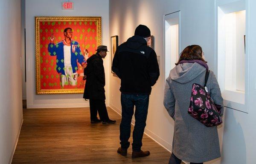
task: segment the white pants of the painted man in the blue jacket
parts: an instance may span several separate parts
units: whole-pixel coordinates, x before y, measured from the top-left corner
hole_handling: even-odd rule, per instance
[[[61,86],[64,85],[77,85],[77,72],[73,73],[72,66],[65,66],[64,67],[65,75],[61,75]]]

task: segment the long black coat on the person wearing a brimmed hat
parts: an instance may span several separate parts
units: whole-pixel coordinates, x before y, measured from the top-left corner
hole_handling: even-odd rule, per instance
[[[84,99],[105,98],[105,72],[102,57],[96,53],[87,59],[87,67],[84,68],[87,76],[84,87]]]

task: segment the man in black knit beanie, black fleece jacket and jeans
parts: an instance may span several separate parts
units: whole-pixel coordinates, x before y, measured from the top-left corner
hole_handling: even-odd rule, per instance
[[[122,121],[120,124],[120,144],[117,153],[127,154],[130,146],[131,119],[135,110],[132,158],[148,156],[142,151],[142,138],[148,113],[149,95],[159,77],[159,66],[155,51],[147,46],[150,42],[150,30],[139,25],[133,37],[121,44],[113,59],[112,71],[121,79]]]

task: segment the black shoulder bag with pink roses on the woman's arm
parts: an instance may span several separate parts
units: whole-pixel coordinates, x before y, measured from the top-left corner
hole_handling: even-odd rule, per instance
[[[188,113],[207,127],[222,123],[221,105],[216,105],[206,87],[209,70],[206,70],[204,86],[194,83]]]

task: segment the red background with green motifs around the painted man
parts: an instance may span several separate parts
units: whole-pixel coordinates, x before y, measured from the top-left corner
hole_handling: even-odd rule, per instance
[[[40,72],[41,89],[73,89],[84,88],[85,81],[82,80],[83,68],[78,64],[79,69],[77,86],[64,85],[61,87],[60,76],[56,71],[56,56],[50,56],[48,53],[48,44],[50,36],[53,33],[58,43],[64,40],[64,29],[70,27],[73,29],[72,40],[79,43],[82,54],[84,50],[89,51],[89,57],[95,53],[97,47],[96,21],[49,21],[40,22]]]

